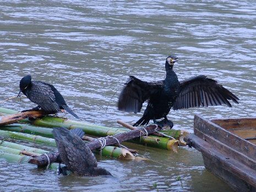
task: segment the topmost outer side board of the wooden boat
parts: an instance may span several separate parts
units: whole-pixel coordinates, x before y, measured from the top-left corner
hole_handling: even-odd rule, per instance
[[[239,138],[237,135],[228,132],[226,129],[198,115],[195,115],[194,117],[194,127],[200,132],[209,135],[210,137],[219,140],[221,143],[230,146],[251,159],[256,160],[255,144]]]

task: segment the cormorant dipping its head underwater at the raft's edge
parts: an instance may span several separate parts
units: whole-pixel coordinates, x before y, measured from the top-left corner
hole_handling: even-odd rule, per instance
[[[97,167],[97,161],[88,145],[81,139],[84,132],[79,129],[53,128],[52,131],[66,170],[77,176],[111,176],[104,168]],[[59,166],[59,172],[63,168]],[[65,170],[64,169],[64,170]]]

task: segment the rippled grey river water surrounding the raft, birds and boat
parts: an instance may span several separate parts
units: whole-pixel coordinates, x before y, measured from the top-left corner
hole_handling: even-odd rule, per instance
[[[54,84],[82,120],[118,127],[116,120],[133,123],[142,115],[116,109],[128,75],[162,80],[165,59],[175,54],[179,80],[208,75],[241,102],[233,108],[171,111],[168,118],[174,128],[193,132],[194,114],[255,116],[255,19],[254,1],[0,1],[0,100],[17,95],[20,78],[30,74],[34,80]],[[14,99],[1,106],[24,110],[35,105]],[[97,156],[113,178],[56,176],[1,160],[1,191],[231,190],[205,170],[194,149],[173,154],[130,146],[152,161]]]

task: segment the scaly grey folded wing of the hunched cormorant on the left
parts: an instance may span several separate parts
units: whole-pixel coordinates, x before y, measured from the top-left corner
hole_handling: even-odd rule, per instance
[[[27,97],[45,111],[59,111],[59,106],[56,103],[55,94],[51,87],[40,81],[33,81],[31,91]]]

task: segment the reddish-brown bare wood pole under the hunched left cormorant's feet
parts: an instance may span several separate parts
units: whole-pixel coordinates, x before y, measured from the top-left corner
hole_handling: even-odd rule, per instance
[[[18,114],[1,116],[0,117],[0,126],[17,123],[19,120],[23,120],[24,118],[36,118],[36,117],[41,117],[44,115],[49,115],[49,113],[47,113],[43,110],[38,110],[38,111],[19,112]]]

